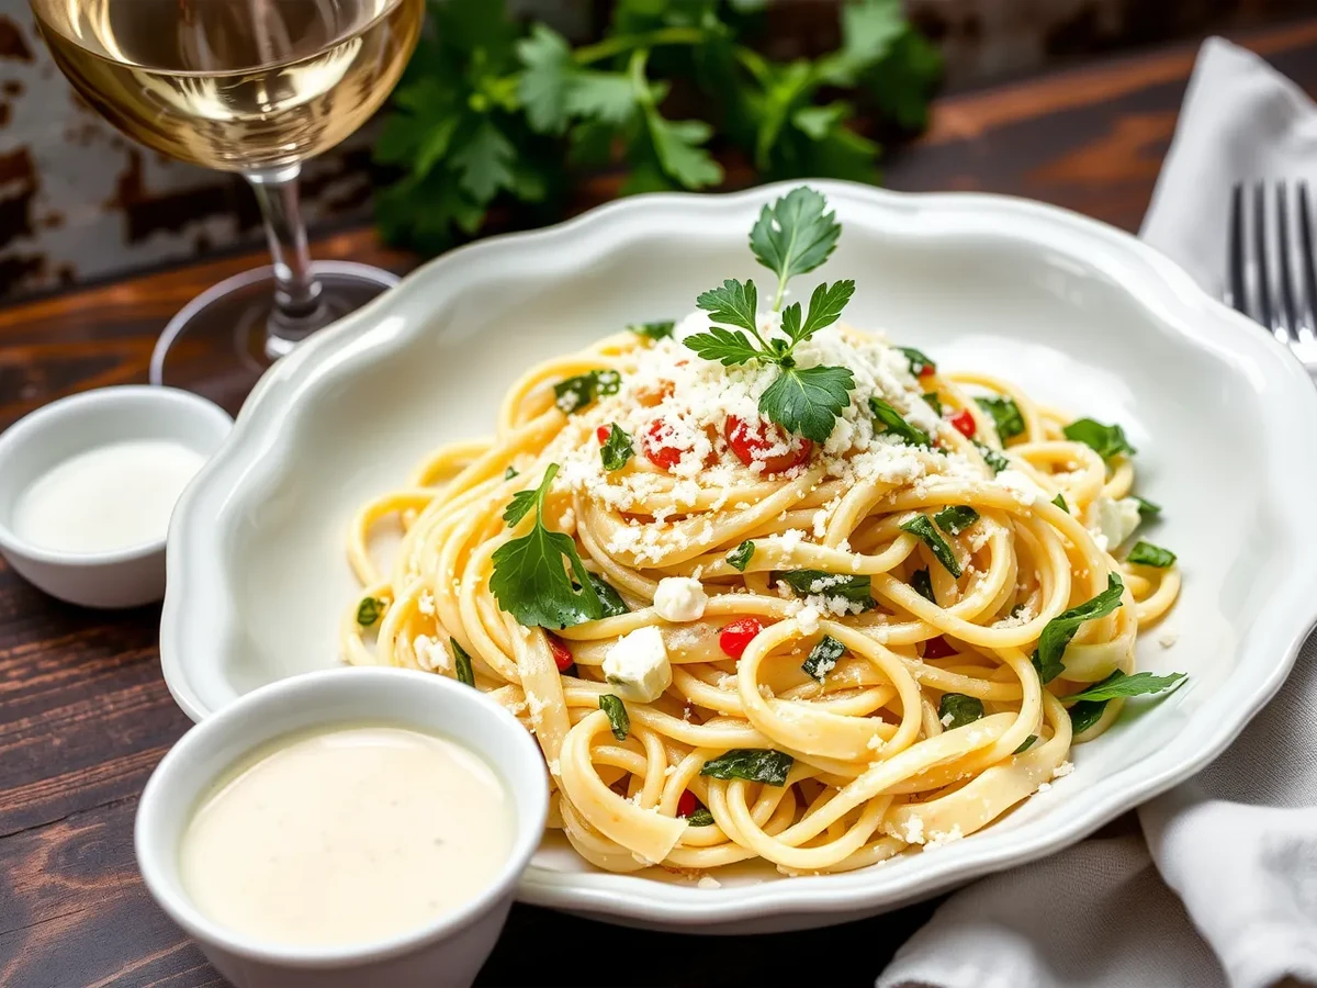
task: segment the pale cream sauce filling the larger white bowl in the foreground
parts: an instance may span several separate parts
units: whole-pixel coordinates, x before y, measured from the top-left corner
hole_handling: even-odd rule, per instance
[[[296,735],[203,797],[183,888],[205,916],[284,946],[407,933],[489,888],[511,797],[477,755],[402,727]]]

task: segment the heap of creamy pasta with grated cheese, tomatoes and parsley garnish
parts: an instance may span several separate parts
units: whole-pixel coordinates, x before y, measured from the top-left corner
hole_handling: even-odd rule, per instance
[[[532,368],[353,522],[345,659],[516,714],[599,868],[936,847],[1183,680],[1134,669],[1180,573],[1130,545],[1159,508],[1123,429],[847,327],[851,281],[790,300],[839,236],[793,190],[751,232],[766,287]]]

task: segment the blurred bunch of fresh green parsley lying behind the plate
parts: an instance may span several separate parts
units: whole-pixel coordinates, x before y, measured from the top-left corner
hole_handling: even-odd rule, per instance
[[[900,0],[847,0],[836,51],[774,62],[740,41],[757,5],[616,0],[603,37],[573,47],[544,24],[515,25],[503,0],[432,0],[374,149],[398,177],[377,194],[381,232],[433,252],[499,204],[548,220],[574,175],[602,167],[624,173],[623,194],[716,186],[710,144],[741,149],[765,179],[876,182],[880,148],[840,97],[919,129],[936,50]],[[701,117],[673,119],[672,103]]]

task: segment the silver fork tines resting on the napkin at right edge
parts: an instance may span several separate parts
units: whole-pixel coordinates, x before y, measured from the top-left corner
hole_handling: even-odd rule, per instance
[[[1266,182],[1237,182],[1231,190],[1226,302],[1317,374],[1317,254],[1308,183],[1277,180],[1271,191],[1268,196]]]

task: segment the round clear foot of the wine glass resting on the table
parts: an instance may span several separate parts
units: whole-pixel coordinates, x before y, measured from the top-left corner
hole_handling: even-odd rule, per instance
[[[153,385],[209,398],[237,415],[248,393],[275,360],[300,339],[361,308],[398,283],[398,275],[352,261],[315,261],[320,308],[296,324],[274,311],[274,269],[257,267],[225,278],[174,316],[151,353]]]

